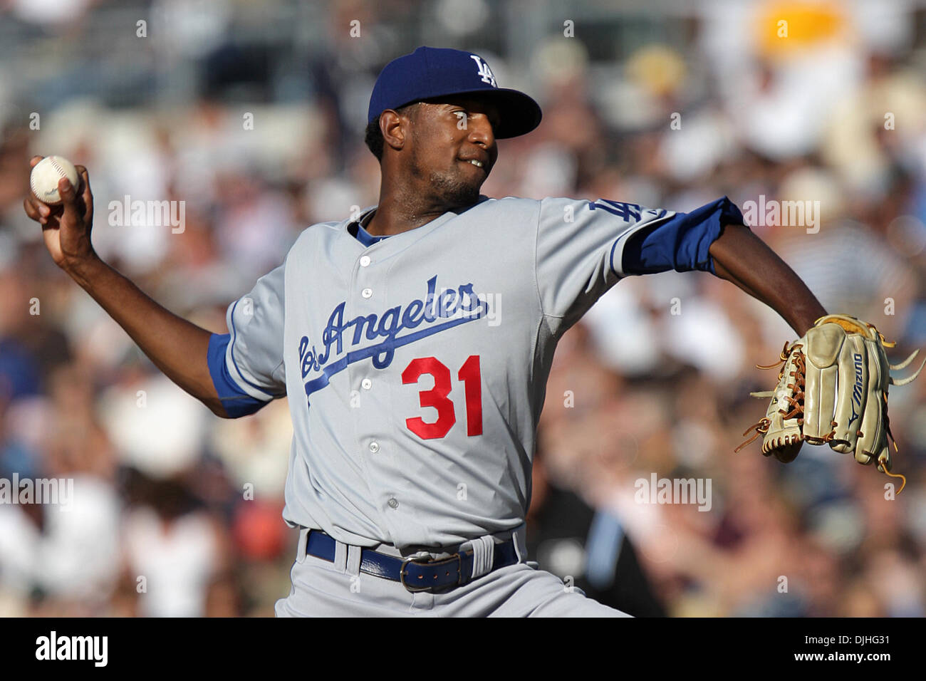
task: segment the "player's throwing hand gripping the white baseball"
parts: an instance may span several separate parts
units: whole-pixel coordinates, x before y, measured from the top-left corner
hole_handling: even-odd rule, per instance
[[[30,168],[42,160],[35,156],[29,161]],[[52,254],[55,264],[64,271],[71,271],[77,265],[95,258],[90,243],[90,231],[94,224],[94,195],[90,191],[90,177],[87,169],[76,166],[79,186],[73,187],[62,178],[58,182],[61,204],[50,206],[31,191],[23,200],[26,215],[42,225],[45,247]]]

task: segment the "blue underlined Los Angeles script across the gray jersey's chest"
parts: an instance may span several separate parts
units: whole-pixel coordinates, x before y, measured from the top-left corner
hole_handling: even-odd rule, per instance
[[[385,369],[394,358],[395,348],[451,329],[466,322],[481,319],[489,312],[484,296],[473,293],[473,284],[460,284],[457,288],[444,288],[438,293],[437,275],[427,282],[424,299],[416,298],[406,305],[386,309],[382,314],[359,315],[344,321],[346,301],[339,303],[328,318],[321,333],[323,348],[319,352],[309,347],[308,336],[299,339],[299,366],[303,381],[312,372],[319,376],[306,382],[306,397],[328,385],[332,375],[349,364],[372,358],[373,366]],[[418,331],[410,331],[424,326]],[[353,329],[353,334],[348,332]],[[409,331],[400,335],[403,331]],[[367,347],[357,347],[367,341],[383,340]],[[348,348],[344,352],[344,346]],[[338,359],[333,359],[337,357]]]

